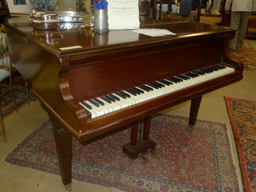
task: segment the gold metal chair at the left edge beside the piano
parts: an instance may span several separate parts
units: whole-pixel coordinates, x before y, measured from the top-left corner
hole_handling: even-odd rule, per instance
[[[13,72],[16,71],[15,68],[12,68],[9,51],[7,47],[7,40],[5,35],[5,27],[1,25],[0,27],[0,37],[1,37],[1,45],[0,45],[0,99],[7,100],[3,104],[0,104],[0,111],[3,106],[7,105],[9,102],[13,102],[15,109],[18,113],[18,108],[15,102],[13,88],[23,88],[26,89],[27,94],[27,101],[29,104],[29,97],[28,97],[28,86],[27,86],[27,79],[23,76],[20,76],[20,80],[22,81],[22,86],[13,86]],[[17,71],[16,71],[17,72]],[[9,78],[9,79],[8,79]],[[4,82],[3,82],[4,81]],[[10,94],[8,94],[10,93]],[[2,127],[2,131],[0,131],[0,136],[4,136],[4,140],[6,143],[6,135],[5,135],[5,127],[3,123],[2,114],[0,113],[0,124]]]

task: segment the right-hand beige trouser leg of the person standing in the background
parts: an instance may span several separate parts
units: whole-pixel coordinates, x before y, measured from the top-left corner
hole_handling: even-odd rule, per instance
[[[238,37],[237,37],[237,42],[236,42],[237,49],[240,49],[243,45],[249,16],[250,16],[250,12],[243,11],[241,14],[239,30],[238,30]]]

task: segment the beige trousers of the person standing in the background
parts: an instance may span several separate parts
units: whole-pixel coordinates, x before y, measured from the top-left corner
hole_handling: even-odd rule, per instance
[[[245,12],[245,11],[231,12],[230,27],[234,29],[238,29],[238,31],[236,32],[236,36],[229,41],[228,48],[230,50],[236,50],[242,47],[245,34],[246,34],[249,16],[250,16],[250,12]]]

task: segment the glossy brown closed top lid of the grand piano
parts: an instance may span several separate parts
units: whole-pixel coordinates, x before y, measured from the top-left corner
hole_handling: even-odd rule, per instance
[[[58,49],[60,48],[70,48],[63,50],[65,52],[72,50],[72,47],[79,47],[88,49],[94,49],[99,46],[111,46],[115,47],[129,45],[141,44],[141,41],[148,41],[152,39],[159,40],[170,40],[176,39],[180,36],[195,36],[199,33],[210,34],[218,32],[226,32],[227,29],[233,30],[231,28],[208,25],[208,24],[198,24],[196,22],[168,22],[168,20],[144,20],[140,28],[148,29],[167,29],[170,32],[176,33],[177,35],[165,35],[161,37],[151,37],[143,34],[138,34],[132,32],[132,30],[111,30],[109,33],[97,34],[93,33],[90,28],[86,28],[85,24],[82,23],[61,23],[59,27],[55,30],[35,30],[32,27],[32,23],[29,22],[27,17],[24,18],[12,18],[8,19],[7,23],[11,26],[15,26],[19,33],[22,32],[23,35],[33,36],[39,41],[50,45],[51,47]],[[131,46],[131,45],[129,45]]]

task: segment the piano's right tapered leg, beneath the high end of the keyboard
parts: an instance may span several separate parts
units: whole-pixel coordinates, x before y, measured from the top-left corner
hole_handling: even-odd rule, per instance
[[[193,126],[196,124],[201,100],[202,100],[202,96],[191,100],[189,120],[188,120],[188,125],[189,125],[188,131],[191,131],[193,129]]]

